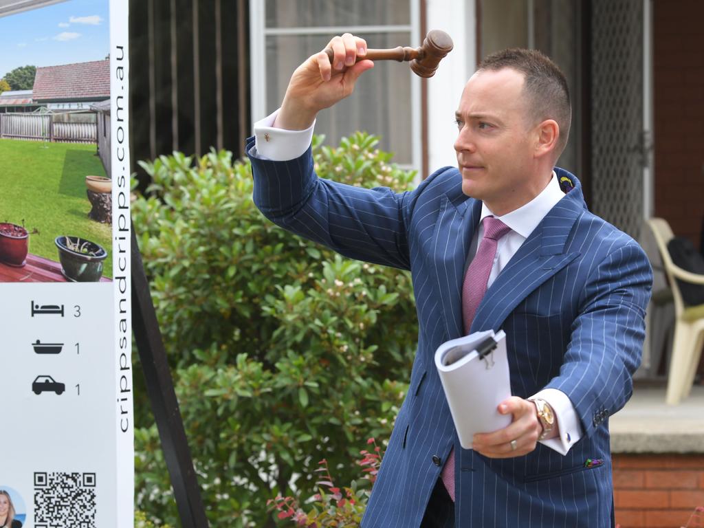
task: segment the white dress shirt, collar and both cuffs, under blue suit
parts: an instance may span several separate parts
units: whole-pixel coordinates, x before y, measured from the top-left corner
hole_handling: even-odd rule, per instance
[[[313,139],[313,128],[315,122],[306,130],[284,130],[275,128],[274,122],[279,111],[268,115],[263,120],[254,124],[254,149],[260,158],[271,161],[288,161],[299,156],[308,150]],[[510,232],[498,240],[496,247],[496,257],[489,274],[487,287],[491,286],[498,274],[505,268],[508,261],[515,255],[521,244],[527,239],[545,215],[555,206],[565,194],[560,189],[558,178],[553,172],[553,177],[547,187],[534,199],[516,210],[506,213],[503,216],[496,216],[505,225],[511,228]],[[474,233],[470,255],[477,252],[479,240],[484,234],[482,220],[486,216],[495,216],[491,213],[486,204],[482,202],[482,213],[479,218],[479,229]],[[582,438],[582,425],[574,410],[572,401],[567,395],[558,389],[543,389],[534,395],[547,401],[555,412],[555,426],[560,431],[560,436],[543,440],[542,444],[553,448],[558,453],[566,455],[570,447]]]

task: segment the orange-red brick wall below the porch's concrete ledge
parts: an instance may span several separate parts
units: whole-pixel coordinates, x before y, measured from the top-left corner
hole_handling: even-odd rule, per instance
[[[621,528],[679,528],[704,506],[704,454],[615,453],[613,482]]]

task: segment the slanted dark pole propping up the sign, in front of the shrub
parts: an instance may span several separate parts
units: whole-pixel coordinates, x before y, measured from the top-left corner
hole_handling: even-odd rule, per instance
[[[132,332],[183,528],[208,528],[159,323],[132,225]]]

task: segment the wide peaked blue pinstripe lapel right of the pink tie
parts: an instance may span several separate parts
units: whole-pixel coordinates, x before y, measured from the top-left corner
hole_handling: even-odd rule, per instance
[[[579,252],[566,252],[565,248],[583,211],[584,201],[577,189],[551,209],[486,290],[474,315],[472,332],[499,329],[524,298],[579,256]]]

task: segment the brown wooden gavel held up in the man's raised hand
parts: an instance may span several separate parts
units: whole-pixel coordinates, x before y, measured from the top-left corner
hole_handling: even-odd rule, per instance
[[[371,61],[410,61],[410,69],[420,77],[432,77],[441,59],[452,51],[450,35],[441,30],[428,32],[420,48],[401,47],[391,49],[367,49],[367,54],[357,57],[357,61],[368,58]],[[332,63],[332,48],[325,48],[325,53]]]

